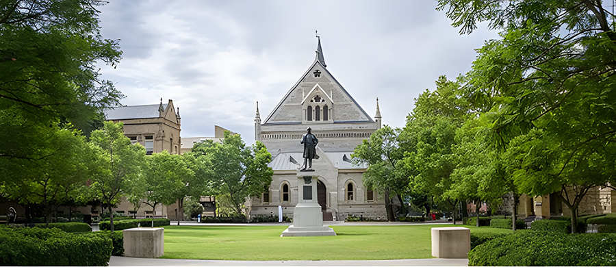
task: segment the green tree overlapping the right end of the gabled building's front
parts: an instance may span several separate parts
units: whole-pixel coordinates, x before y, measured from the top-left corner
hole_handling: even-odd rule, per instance
[[[398,162],[402,159],[398,135],[400,129],[384,125],[372,133],[370,139],[364,139],[351,154],[354,164],[368,164],[363,173],[363,184],[374,188],[385,196],[387,220],[395,220],[392,206],[392,194],[402,203],[402,194],[409,188],[409,179],[403,175]]]

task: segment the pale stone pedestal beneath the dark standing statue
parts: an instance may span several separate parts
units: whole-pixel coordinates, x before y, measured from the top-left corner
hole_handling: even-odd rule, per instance
[[[317,200],[318,175],[314,172],[298,172],[298,203],[293,212],[293,225],[283,236],[335,236],[330,227],[323,225],[323,212]]]

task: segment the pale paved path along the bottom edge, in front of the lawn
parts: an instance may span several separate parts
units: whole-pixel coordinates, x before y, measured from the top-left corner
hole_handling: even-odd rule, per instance
[[[389,259],[381,261],[220,261],[143,259],[112,256],[109,266],[468,266],[468,259]]]

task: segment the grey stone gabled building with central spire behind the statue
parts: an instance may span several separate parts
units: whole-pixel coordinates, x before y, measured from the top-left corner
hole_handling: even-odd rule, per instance
[[[324,220],[386,218],[383,197],[363,186],[366,166],[350,160],[355,147],[381,128],[378,100],[373,119],[327,71],[320,40],[316,53],[308,70],[263,121],[257,103],[255,139],[272,153],[269,166],[274,175],[268,192],[247,202],[247,212],[251,216],[277,215],[281,205],[283,215],[292,218],[298,203],[297,170],[303,164],[300,140],[311,127],[319,140],[320,156],[313,160],[313,168],[326,173],[318,177]]]

